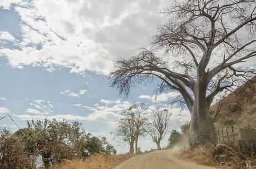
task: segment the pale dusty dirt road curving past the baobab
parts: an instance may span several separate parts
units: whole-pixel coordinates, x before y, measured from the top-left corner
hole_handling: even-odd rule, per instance
[[[138,155],[122,162],[115,169],[215,169],[179,160],[174,150],[162,150]]]

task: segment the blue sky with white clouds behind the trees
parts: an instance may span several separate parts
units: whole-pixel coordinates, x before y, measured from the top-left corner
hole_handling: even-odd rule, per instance
[[[110,88],[107,74],[118,58],[150,44],[160,10],[168,0],[0,0],[0,118],[8,111],[19,127],[27,120],[80,121],[86,131],[106,136],[118,152],[128,151],[110,132],[131,102],[151,107],[176,94],[154,97],[154,84],[132,89],[126,100]],[[172,129],[189,120],[173,108]],[[10,118],[1,126],[17,130]],[[163,142],[163,146],[167,141]],[[142,138],[142,150],[155,148]]]

